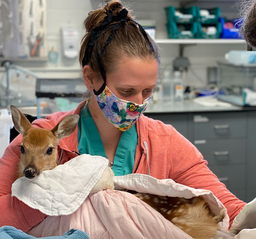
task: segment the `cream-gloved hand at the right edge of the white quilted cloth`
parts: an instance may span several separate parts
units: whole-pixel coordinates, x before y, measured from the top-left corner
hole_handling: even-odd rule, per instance
[[[105,169],[103,172],[99,182],[92,188],[91,193],[99,192],[103,189],[114,189],[114,180],[113,176],[115,176],[113,170],[109,167]]]

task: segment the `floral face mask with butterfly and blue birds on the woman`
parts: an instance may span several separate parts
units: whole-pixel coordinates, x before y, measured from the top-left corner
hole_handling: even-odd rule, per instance
[[[143,104],[137,105],[116,97],[107,86],[95,97],[106,119],[121,131],[129,130],[132,127],[146,110],[151,98],[149,96]]]

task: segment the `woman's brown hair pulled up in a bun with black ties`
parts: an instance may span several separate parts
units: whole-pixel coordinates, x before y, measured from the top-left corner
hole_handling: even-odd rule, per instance
[[[99,9],[89,12],[89,16],[84,21],[86,34],[81,41],[79,56],[79,61],[81,65],[86,45],[90,40],[91,30],[95,27],[98,27],[104,21],[105,17],[107,16],[107,10],[112,10],[112,14],[116,15],[116,13],[120,12],[123,8],[123,4],[120,1],[112,0],[105,5],[101,5]],[[134,16],[131,15],[132,11],[128,11],[129,12],[127,18],[134,20]],[[115,24],[115,22],[111,24]],[[110,32],[111,28],[104,31],[99,36],[95,46],[93,47],[92,57],[88,64],[92,68],[94,73],[99,74],[99,76],[100,71],[97,62],[97,52],[101,51],[104,43],[108,39]],[[124,23],[124,25],[116,30],[113,36],[113,40],[108,44],[105,49],[105,53],[101,58],[106,74],[112,73],[115,70],[117,62],[122,56],[139,58],[148,61],[157,60],[157,62],[160,63],[158,46],[150,36],[148,36],[148,38],[153,45],[154,52],[151,51],[148,41],[140,33],[140,30],[136,24],[134,24],[132,21]]]

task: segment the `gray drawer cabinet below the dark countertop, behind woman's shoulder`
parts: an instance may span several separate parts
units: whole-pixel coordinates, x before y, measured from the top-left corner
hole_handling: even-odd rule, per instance
[[[256,197],[256,111],[145,114],[189,139],[239,199]]]

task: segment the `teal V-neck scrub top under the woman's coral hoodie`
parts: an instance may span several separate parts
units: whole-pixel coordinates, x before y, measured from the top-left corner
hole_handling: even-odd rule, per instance
[[[88,100],[87,100],[88,103]],[[107,158],[100,134],[94,123],[87,103],[81,108],[78,121],[78,152],[79,154],[100,155]],[[115,176],[132,173],[135,150],[138,143],[136,123],[127,131],[123,131],[118,143],[112,170]]]

